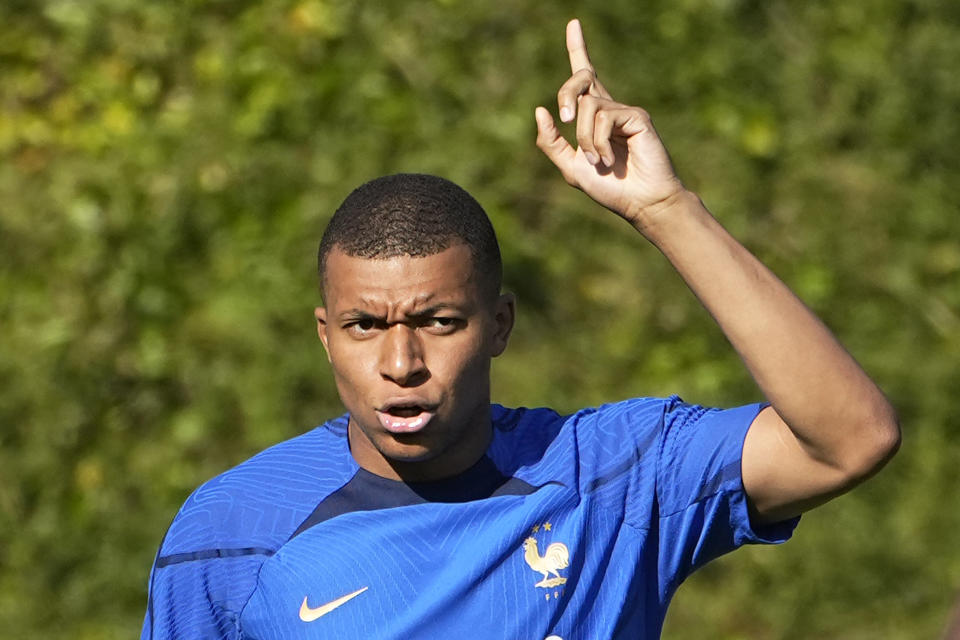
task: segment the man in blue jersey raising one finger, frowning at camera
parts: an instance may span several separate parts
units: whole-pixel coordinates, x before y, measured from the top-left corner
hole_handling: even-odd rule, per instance
[[[363,185],[319,251],[348,414],[208,482],[167,533],[143,637],[655,638],[680,582],[896,450],[882,393],[597,80],[580,25],[537,144],[653,243],[769,404],[640,398],[572,416],[489,402],[514,301],[480,206],[432,176]]]

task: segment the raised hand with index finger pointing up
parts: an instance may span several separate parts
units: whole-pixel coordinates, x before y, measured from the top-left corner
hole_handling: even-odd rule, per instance
[[[560,134],[553,116],[537,107],[537,146],[568,183],[642,230],[647,218],[684,188],[667,150],[640,107],[616,102],[597,78],[579,20],[567,24],[573,75],[557,94],[560,119],[577,121],[577,148]]]

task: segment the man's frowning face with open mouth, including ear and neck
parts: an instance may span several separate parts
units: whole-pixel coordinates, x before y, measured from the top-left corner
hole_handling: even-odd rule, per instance
[[[470,250],[327,256],[317,330],[365,469],[429,480],[476,462],[490,439],[490,359],[513,326],[510,296],[484,293]]]

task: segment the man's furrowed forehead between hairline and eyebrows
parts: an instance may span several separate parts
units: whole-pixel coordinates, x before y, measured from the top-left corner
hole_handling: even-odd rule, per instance
[[[479,295],[466,245],[429,256],[363,258],[334,248],[327,256],[324,297],[328,306],[430,306],[464,304]]]

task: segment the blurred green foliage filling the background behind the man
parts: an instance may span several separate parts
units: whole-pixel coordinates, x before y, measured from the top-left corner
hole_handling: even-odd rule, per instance
[[[357,184],[452,178],[520,323],[495,399],[758,398],[655,250],[533,145],[584,21],[685,182],[874,374],[900,455],[665,637],[934,638],[960,588],[960,4],[0,3],[0,628],[128,638],[206,478],[341,411],[315,244]]]

